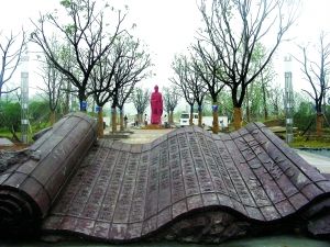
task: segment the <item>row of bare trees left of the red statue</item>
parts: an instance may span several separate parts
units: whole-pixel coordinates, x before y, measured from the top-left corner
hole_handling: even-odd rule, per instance
[[[63,94],[66,94],[66,105],[69,104],[69,96],[76,96],[80,111],[86,111],[87,99],[92,98],[98,110],[98,134],[102,137],[103,105],[111,102],[112,128],[117,131],[116,110],[120,110],[122,119],[123,105],[135,85],[150,76],[151,57],[143,43],[124,27],[127,13],[122,10],[92,0],[62,0],[61,5],[62,11],[40,14],[38,20],[31,20],[34,31],[29,38],[23,32],[12,71],[18,66],[25,42],[37,44],[42,49],[38,55],[42,63],[40,72],[45,86],[41,89],[50,102],[51,122],[55,121]],[[15,40],[14,36],[10,38],[8,46]],[[3,54],[7,55],[6,50]],[[9,68],[10,65],[4,61],[2,67]],[[4,78],[3,74],[0,74],[0,89],[11,77],[9,74]]]

